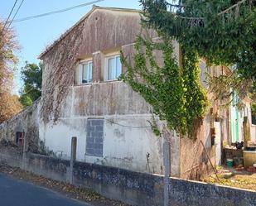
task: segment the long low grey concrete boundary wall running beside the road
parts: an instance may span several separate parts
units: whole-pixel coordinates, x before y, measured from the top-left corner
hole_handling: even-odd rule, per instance
[[[22,156],[1,148],[0,160],[8,165],[22,167]],[[36,175],[68,181],[70,162],[48,156],[28,153],[26,168]],[[104,165],[75,162],[75,185],[93,189],[110,199],[142,206],[163,205],[163,176],[121,170]],[[205,184],[196,181],[169,179],[169,205],[173,206],[254,206],[256,193],[244,189]]]

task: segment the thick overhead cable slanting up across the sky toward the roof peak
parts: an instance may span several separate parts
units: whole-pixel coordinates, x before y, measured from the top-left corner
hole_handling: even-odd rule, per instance
[[[20,19],[14,20],[13,22],[15,22],[15,23],[16,22],[24,22],[24,21],[35,19],[35,18],[39,18],[39,17],[46,17],[46,16],[49,16],[49,15],[52,15],[52,14],[56,14],[56,13],[60,13],[60,12],[67,12],[67,11],[70,11],[70,10],[78,8],[78,7],[85,7],[85,6],[89,6],[89,5],[93,4],[93,3],[103,2],[103,1],[104,0],[95,0],[95,1],[92,1],[92,2],[86,2],[86,3],[82,3],[80,5],[76,5],[74,7],[67,7],[67,8],[56,10],[56,11],[52,11],[52,12],[41,13],[41,14],[38,14],[38,15],[35,15],[35,16],[31,16],[31,17],[20,18]]]

